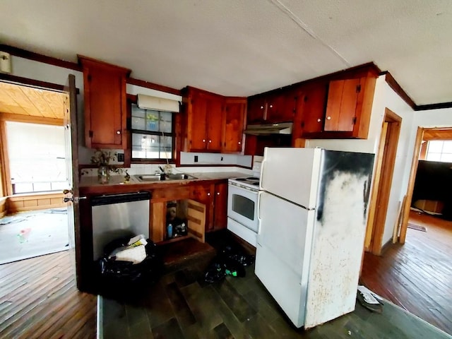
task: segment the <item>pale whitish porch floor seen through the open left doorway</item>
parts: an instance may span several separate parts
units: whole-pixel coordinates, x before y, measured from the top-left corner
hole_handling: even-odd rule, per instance
[[[0,264],[69,249],[66,208],[0,218]]]

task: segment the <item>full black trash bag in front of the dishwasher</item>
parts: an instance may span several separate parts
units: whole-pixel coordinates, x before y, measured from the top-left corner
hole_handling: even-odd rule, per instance
[[[157,246],[150,239],[146,239],[146,257],[141,263],[119,261],[108,258],[109,254],[121,246],[126,246],[130,238],[116,239],[105,246],[105,255],[98,261],[100,294],[118,296],[119,294],[133,294],[144,287],[155,283],[162,274],[163,261],[157,253]]]

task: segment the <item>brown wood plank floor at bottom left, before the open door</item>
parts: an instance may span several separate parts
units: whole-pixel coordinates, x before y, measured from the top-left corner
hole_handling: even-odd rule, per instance
[[[77,290],[71,255],[0,265],[0,338],[96,338],[97,296]]]

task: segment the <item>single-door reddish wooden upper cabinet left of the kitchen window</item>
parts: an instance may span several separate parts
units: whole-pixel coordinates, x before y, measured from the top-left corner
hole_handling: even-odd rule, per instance
[[[83,68],[86,147],[126,149],[126,78],[131,71],[78,59]]]

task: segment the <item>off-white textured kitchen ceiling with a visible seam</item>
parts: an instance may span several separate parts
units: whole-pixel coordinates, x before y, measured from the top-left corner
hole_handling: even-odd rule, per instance
[[[449,0],[2,0],[0,42],[249,96],[369,61],[416,105],[451,102]],[[14,67],[14,65],[13,65]]]

